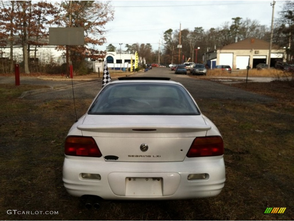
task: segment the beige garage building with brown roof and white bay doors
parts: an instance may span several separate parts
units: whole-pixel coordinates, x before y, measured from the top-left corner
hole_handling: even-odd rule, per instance
[[[230,65],[233,70],[246,69],[248,64],[251,68],[255,68],[260,63],[267,64],[269,47],[269,42],[257,38],[247,38],[206,52],[203,54],[203,61],[211,69],[216,65]],[[285,61],[285,55],[285,48],[272,44],[270,67],[274,67],[276,60]]]

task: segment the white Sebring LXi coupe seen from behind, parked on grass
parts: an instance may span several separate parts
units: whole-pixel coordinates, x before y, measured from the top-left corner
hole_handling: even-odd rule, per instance
[[[92,199],[212,197],[225,183],[223,152],[220,132],[183,85],[122,77],[69,130],[64,187]]]

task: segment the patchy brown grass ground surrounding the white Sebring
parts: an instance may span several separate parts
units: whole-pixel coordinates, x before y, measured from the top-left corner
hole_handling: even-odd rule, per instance
[[[63,145],[75,120],[69,112],[72,100],[18,99],[23,91],[40,86],[1,85],[0,220],[293,220],[294,89],[281,81],[232,86],[276,100],[198,101],[225,142],[227,180],[220,195],[105,202],[96,211],[85,209],[83,199],[70,196],[63,187]],[[76,100],[77,115],[90,103]],[[267,207],[287,209],[283,214],[264,214]],[[9,214],[9,210],[17,211]],[[23,214],[27,211],[29,214]]]

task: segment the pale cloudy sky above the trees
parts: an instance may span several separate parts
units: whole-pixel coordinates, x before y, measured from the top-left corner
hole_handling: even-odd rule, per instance
[[[284,1],[275,1],[278,17]],[[168,29],[203,27],[205,31],[232,24],[232,18],[257,20],[271,26],[273,1],[111,1],[114,19],[105,25],[106,43],[95,49],[106,50],[113,44],[126,50],[126,44],[150,43],[153,50],[162,48],[163,33]]]

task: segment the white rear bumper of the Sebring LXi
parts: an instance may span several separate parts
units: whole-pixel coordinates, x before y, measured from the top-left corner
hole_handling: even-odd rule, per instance
[[[84,179],[81,173],[99,174],[101,179]],[[208,174],[205,179],[187,179],[189,174],[202,173]],[[133,178],[137,183],[130,184],[128,180]],[[117,200],[212,197],[224,187],[225,165],[223,156],[183,162],[112,162],[66,156],[63,181],[67,192],[77,197],[96,195]]]

